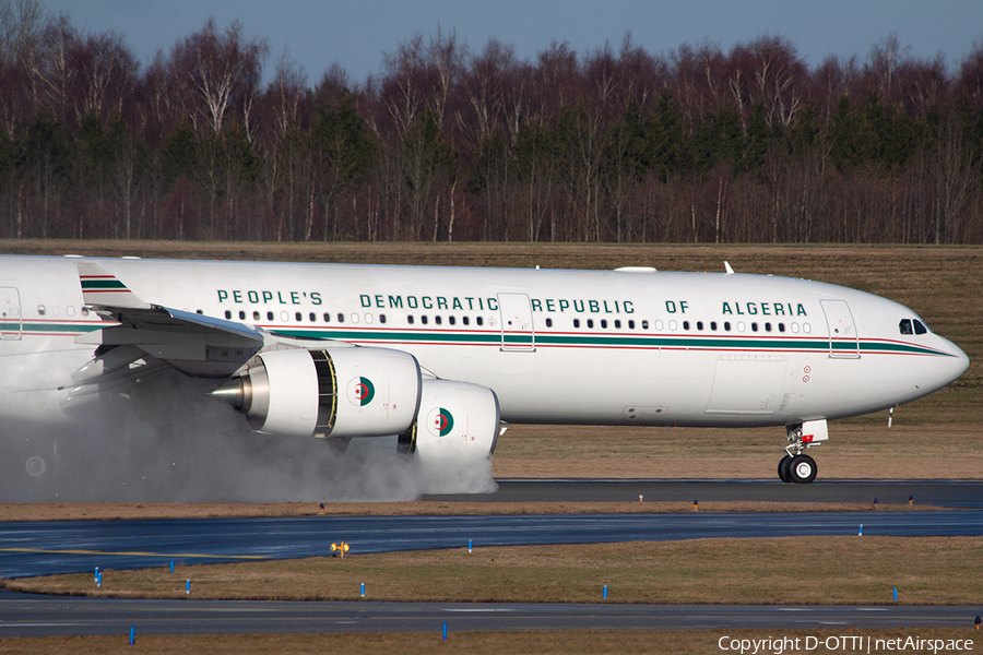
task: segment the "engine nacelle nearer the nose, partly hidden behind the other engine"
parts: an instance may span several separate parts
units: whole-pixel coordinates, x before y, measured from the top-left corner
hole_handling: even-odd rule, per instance
[[[487,386],[454,380],[424,380],[419,413],[400,434],[403,453],[424,462],[476,464],[495,452],[501,415],[498,396]]]

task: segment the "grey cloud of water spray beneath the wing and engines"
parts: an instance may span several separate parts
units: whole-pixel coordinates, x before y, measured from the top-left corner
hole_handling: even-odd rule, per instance
[[[70,429],[46,428],[44,416],[9,426],[16,454],[0,501],[382,501],[496,488],[490,461],[448,473],[400,454],[395,438],[353,439],[341,452],[331,440],[256,433],[208,396],[214,386],[169,371],[76,410]]]

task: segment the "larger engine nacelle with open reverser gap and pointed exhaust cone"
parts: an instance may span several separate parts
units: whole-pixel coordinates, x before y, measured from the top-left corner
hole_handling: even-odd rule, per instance
[[[419,365],[387,348],[271,350],[212,392],[259,432],[383,437],[407,430],[421,401]]]

